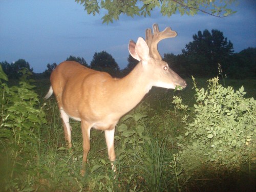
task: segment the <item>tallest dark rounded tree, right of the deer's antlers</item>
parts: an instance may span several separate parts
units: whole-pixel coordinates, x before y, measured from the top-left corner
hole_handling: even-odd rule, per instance
[[[219,30],[206,29],[193,35],[193,41],[182,49],[182,53],[188,57],[190,68],[196,72],[194,75],[211,76],[218,74],[218,63],[223,70],[229,66],[229,56],[233,53],[233,44],[228,41]]]

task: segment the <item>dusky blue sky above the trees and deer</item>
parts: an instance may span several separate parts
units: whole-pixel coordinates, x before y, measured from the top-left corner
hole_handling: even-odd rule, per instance
[[[163,17],[155,10],[151,17],[120,16],[113,24],[102,24],[101,15],[88,15],[74,0],[1,0],[0,61],[20,58],[30,63],[34,72],[46,70],[47,63],[60,63],[70,55],[80,56],[90,64],[95,52],[106,51],[123,69],[129,56],[130,39],[145,37],[145,29],[154,23],[160,30],[170,26],[175,38],[159,43],[159,52],[180,54],[199,30],[217,29],[233,43],[235,52],[256,47],[256,3],[241,0],[233,6],[236,14],[217,18],[206,14]]]

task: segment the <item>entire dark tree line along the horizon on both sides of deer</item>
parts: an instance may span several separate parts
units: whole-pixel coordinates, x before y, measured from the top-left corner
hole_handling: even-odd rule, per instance
[[[224,37],[219,30],[207,29],[198,31],[193,35],[193,41],[189,42],[182,53],[174,55],[165,53],[165,60],[169,67],[182,77],[214,77],[219,73],[227,75],[228,78],[254,78],[256,76],[256,48],[247,48],[239,53],[233,53],[233,44]],[[106,51],[95,52],[90,65],[83,57],[69,56],[66,60],[73,60],[81,63],[81,65],[110,73],[114,77],[122,77],[130,73],[137,65],[138,61],[131,55],[127,58],[127,67],[120,70],[117,62],[111,54]],[[20,76],[19,70],[28,68],[31,72],[28,62],[19,59],[16,62],[8,63],[0,62],[4,72],[9,78],[17,78]],[[41,75],[48,77],[56,68],[57,63],[48,63],[47,70]]]

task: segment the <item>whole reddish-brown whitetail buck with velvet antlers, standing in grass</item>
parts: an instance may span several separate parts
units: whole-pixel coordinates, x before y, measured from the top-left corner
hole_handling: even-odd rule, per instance
[[[167,27],[159,32],[158,25],[146,30],[146,41],[129,42],[130,54],[140,62],[127,76],[117,79],[74,61],[60,63],[51,74],[51,87],[45,98],[55,94],[63,121],[65,138],[71,144],[69,118],[81,121],[83,139],[82,175],[90,150],[90,130],[104,130],[111,162],[115,161],[114,133],[119,119],[132,110],[153,86],[167,89],[185,88],[186,82],[164,62],[157,45],[177,33]]]

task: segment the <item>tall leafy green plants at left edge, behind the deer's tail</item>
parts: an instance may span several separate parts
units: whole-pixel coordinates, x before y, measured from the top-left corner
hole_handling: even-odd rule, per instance
[[[30,84],[32,73],[27,68],[19,73],[23,74],[19,86],[9,88],[2,81],[8,79],[0,67],[1,186],[4,190],[31,191],[29,182],[37,174],[34,160],[38,157],[39,129],[46,120]]]

